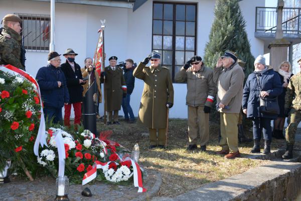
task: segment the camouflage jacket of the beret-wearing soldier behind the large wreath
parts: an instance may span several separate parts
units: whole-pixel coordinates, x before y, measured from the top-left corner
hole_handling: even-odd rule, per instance
[[[21,63],[22,37],[13,29],[4,26],[0,35],[0,65],[11,64],[25,70]]]

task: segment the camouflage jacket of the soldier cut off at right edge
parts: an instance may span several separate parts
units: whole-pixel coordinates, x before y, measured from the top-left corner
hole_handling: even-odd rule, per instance
[[[289,79],[285,94],[284,108],[294,108],[301,110],[301,72],[293,75]]]

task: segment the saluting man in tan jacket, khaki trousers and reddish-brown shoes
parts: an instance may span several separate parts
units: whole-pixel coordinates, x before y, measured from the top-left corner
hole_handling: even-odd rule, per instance
[[[237,124],[244,80],[243,70],[234,52],[226,51],[218,59],[213,77],[217,83],[217,110],[221,119],[222,138],[219,144],[222,150],[218,154],[225,154],[225,158],[232,159],[240,156]]]

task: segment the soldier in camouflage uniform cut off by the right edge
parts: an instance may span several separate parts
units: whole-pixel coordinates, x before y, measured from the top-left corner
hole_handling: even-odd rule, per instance
[[[301,70],[301,58],[298,60]],[[297,126],[301,121],[301,71],[293,75],[288,83],[285,94],[284,114],[287,116],[290,110],[290,123],[285,129],[286,151],[282,155],[283,159],[292,158],[292,149],[294,144]]]

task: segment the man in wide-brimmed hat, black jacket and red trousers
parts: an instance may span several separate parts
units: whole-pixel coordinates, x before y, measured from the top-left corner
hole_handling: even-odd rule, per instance
[[[74,110],[74,125],[80,124],[81,118],[81,104],[83,100],[83,81],[80,66],[75,63],[75,56],[77,54],[72,49],[67,49],[63,56],[66,62],[61,65],[61,69],[65,74],[67,80],[67,87],[70,96],[70,104],[65,106],[64,124],[70,126],[71,105]]]

